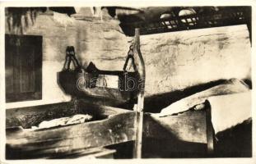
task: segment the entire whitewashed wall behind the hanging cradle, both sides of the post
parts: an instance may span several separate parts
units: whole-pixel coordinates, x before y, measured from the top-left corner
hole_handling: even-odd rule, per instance
[[[7,31],[7,34],[12,32]],[[119,21],[77,21],[63,14],[40,15],[25,34],[43,36],[43,99],[7,103],[7,108],[70,101],[57,84],[65,48],[73,45],[83,66],[121,71],[128,40]],[[146,95],[184,89],[211,80],[250,76],[250,43],[246,25],[141,36],[146,62]]]

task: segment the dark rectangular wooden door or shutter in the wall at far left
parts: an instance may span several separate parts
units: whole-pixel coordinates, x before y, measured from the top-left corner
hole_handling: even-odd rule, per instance
[[[42,36],[5,35],[6,102],[42,98]]]

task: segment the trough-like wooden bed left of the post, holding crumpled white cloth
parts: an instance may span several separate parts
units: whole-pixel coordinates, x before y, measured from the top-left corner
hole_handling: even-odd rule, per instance
[[[70,108],[71,104],[7,110],[7,158],[58,157],[77,153],[84,148],[99,148],[134,140],[135,112],[82,102],[73,109]],[[77,113],[91,114],[95,120],[43,130],[28,129],[40,121]]]

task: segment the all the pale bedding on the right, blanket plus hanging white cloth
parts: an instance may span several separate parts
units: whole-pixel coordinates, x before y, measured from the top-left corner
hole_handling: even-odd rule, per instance
[[[251,117],[251,91],[242,80],[226,80],[223,84],[195,93],[165,107],[156,116],[169,116],[189,109],[203,109],[208,100],[212,108],[215,133],[240,124]]]

